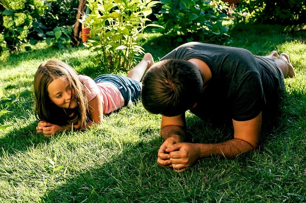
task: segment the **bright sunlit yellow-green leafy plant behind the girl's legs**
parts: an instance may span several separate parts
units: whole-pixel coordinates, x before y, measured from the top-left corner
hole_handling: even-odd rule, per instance
[[[147,16],[158,1],[152,0],[88,0],[91,13],[81,21],[89,27],[86,46],[97,53],[95,63],[110,70],[128,70],[134,56],[144,53],[139,42],[150,21]]]

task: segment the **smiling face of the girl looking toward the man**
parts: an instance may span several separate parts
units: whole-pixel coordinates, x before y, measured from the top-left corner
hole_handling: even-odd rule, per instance
[[[56,78],[48,85],[48,94],[51,102],[62,108],[75,108],[75,91],[67,80]]]

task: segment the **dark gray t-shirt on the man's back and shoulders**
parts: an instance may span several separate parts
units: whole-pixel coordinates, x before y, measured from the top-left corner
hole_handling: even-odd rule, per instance
[[[255,118],[278,91],[278,79],[248,50],[199,42],[183,44],[165,59],[199,59],[212,73],[207,88],[191,112],[199,117],[225,115],[237,121]],[[266,96],[270,94],[269,96]]]

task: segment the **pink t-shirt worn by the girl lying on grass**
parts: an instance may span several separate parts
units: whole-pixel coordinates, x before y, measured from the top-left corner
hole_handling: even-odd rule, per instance
[[[101,95],[103,99],[103,114],[111,113],[124,105],[124,99],[113,83],[102,82],[96,84],[93,79],[86,75],[78,75],[78,78],[89,90],[89,92],[86,91],[88,102],[98,94]]]

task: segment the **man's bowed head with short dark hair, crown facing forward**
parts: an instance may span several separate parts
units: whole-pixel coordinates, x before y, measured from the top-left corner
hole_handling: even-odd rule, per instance
[[[200,96],[203,79],[191,62],[168,59],[155,63],[142,79],[141,101],[153,114],[177,116]]]

